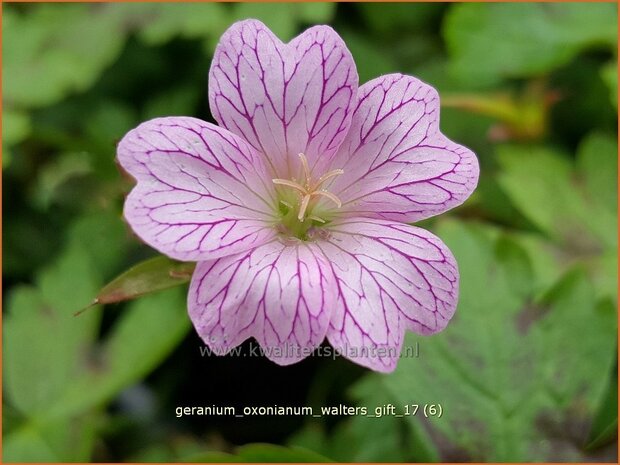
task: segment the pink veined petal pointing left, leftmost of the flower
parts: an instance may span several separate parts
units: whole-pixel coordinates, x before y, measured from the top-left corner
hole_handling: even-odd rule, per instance
[[[138,184],[124,214],[147,244],[178,260],[238,253],[273,237],[275,200],[260,156],[195,118],[158,118],[130,131],[118,161]]]

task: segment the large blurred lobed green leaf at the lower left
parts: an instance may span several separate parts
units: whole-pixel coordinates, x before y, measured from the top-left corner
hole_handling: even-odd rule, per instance
[[[4,401],[20,416],[5,430],[5,458],[90,460],[99,408],[157,366],[186,334],[179,289],[132,304],[99,346],[100,314],[73,316],[124,258],[125,236],[116,215],[86,216],[70,227],[66,249],[36,285],[9,294]]]

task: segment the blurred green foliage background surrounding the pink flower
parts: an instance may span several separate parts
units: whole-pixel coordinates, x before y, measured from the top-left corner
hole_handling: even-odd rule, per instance
[[[73,316],[154,254],[123,224],[116,142],[155,116],[210,119],[213,49],[249,17],[284,40],[331,24],[362,82],[426,80],[479,156],[476,193],[424,225],[457,257],[456,316],[409,335],[419,357],[393,374],[200,357],[183,286]],[[2,21],[4,461],[616,460],[615,4],[7,4]],[[443,415],[173,414],[235,401]]]

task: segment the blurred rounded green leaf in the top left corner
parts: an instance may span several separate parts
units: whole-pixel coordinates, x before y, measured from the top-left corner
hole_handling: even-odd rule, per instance
[[[86,4],[5,8],[3,98],[15,108],[40,107],[90,87],[125,43],[111,11]]]

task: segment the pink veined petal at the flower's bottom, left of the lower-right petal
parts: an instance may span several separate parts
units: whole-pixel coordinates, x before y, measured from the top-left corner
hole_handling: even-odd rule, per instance
[[[274,240],[254,250],[198,263],[189,314],[204,342],[223,355],[254,337],[264,355],[289,365],[325,338],[336,291],[314,244]]]

